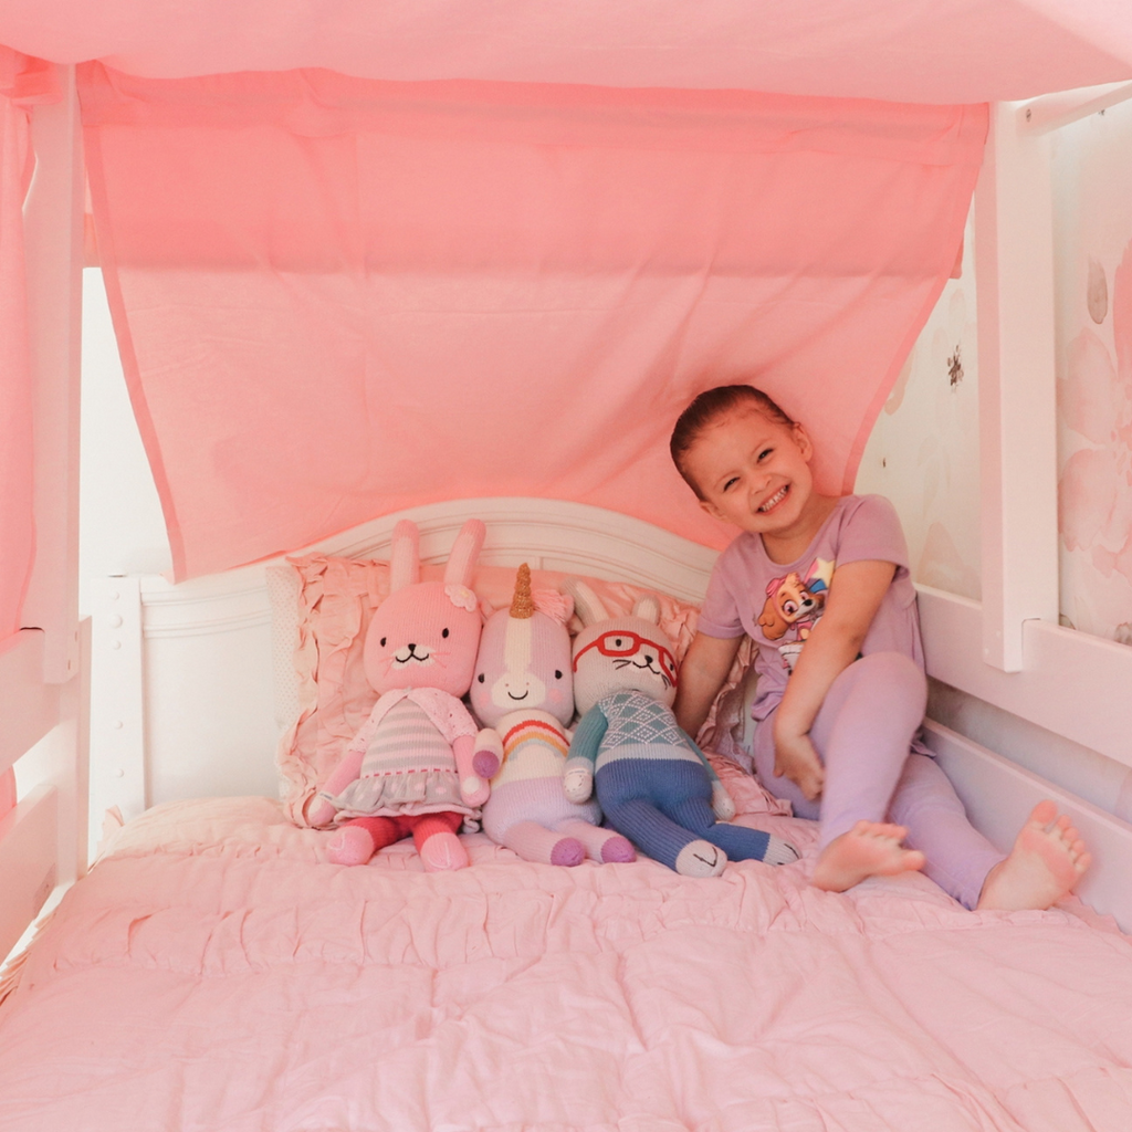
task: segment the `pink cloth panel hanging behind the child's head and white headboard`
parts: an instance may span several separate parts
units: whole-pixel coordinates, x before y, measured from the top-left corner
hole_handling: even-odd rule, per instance
[[[667,436],[723,380],[848,489],[986,131],[981,106],[329,71],[92,63],[80,96],[178,577],[479,495],[720,546]]]

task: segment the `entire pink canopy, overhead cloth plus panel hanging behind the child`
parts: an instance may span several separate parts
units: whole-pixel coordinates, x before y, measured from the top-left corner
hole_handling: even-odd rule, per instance
[[[719,546],[666,441],[726,380],[848,489],[981,103],[1132,78],[1123,9],[6,0],[0,42],[96,60],[100,256],[186,577],[455,496]]]

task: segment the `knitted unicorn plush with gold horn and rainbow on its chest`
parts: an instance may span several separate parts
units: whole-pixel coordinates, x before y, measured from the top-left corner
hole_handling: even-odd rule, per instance
[[[552,600],[549,600],[552,599]],[[531,593],[524,564],[509,609],[488,618],[472,680],[472,709],[501,740],[501,763],[483,804],[483,832],[524,860],[580,865],[633,860],[633,846],[599,826],[597,800],[573,803],[563,788],[574,715],[571,644],[573,609],[558,593]]]

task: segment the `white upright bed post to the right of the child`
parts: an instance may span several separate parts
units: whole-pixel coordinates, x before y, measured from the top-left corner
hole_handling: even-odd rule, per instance
[[[1006,672],[1022,668],[1022,623],[1058,614],[1053,198],[1024,114],[990,108],[975,197],[983,659]]]

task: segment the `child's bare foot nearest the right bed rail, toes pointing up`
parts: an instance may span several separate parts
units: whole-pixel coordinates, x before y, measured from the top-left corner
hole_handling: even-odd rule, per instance
[[[1092,863],[1070,820],[1047,798],[1022,826],[1010,856],[987,873],[976,908],[1003,911],[1049,908]]]

